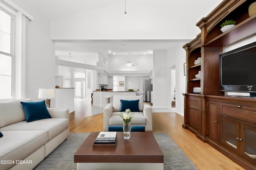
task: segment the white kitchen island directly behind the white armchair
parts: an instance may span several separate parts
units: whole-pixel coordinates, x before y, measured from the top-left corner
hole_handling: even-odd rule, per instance
[[[92,106],[104,108],[108,104],[107,95],[126,95],[126,96],[136,96],[137,91],[113,91],[113,90],[105,90],[105,91],[92,91],[93,93],[93,102]],[[110,98],[110,103],[113,103],[113,98]]]

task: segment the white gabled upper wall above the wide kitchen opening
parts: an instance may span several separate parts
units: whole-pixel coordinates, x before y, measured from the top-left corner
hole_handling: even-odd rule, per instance
[[[124,3],[120,3],[53,20],[51,36],[52,39],[194,39],[200,33],[195,23],[221,1],[177,1],[176,6],[167,10],[127,2],[127,14]],[[177,12],[176,8],[180,10]]]

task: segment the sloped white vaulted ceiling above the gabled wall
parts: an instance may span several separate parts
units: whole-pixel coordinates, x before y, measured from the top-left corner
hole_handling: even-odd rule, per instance
[[[56,20],[83,12],[88,12],[100,8],[106,8],[117,4],[124,5],[125,11],[125,0],[27,0],[35,8],[37,8],[42,14],[44,14],[50,20]],[[195,9],[202,8],[200,11],[203,16],[206,16],[211,12],[222,0],[126,0],[126,4],[132,2],[143,6],[157,8],[165,11],[180,11],[185,6],[191,7],[190,12]],[[185,8],[186,9],[186,8]],[[204,12],[208,10],[205,14]],[[129,12],[129,9],[126,9]],[[186,12],[186,11],[184,11]],[[178,12],[177,12],[178,13]],[[194,15],[191,13],[191,15]]]

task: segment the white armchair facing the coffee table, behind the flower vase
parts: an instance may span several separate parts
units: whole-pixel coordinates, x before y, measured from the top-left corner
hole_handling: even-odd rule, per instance
[[[152,107],[148,104],[143,104],[142,96],[113,96],[113,103],[107,104],[103,109],[103,131],[108,131],[109,126],[122,126],[122,118],[120,113],[120,100],[139,100],[140,112],[133,112],[131,125],[144,126],[145,131],[152,131]]]

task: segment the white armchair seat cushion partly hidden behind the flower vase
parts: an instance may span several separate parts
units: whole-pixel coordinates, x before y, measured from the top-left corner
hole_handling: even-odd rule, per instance
[[[110,119],[109,119],[109,125],[123,125],[122,117],[118,115],[118,112],[115,111],[112,113]],[[124,112],[123,112],[124,113]],[[142,112],[135,112],[134,117],[132,118],[131,125],[145,125],[146,124],[146,118],[144,117]]]

